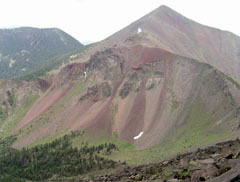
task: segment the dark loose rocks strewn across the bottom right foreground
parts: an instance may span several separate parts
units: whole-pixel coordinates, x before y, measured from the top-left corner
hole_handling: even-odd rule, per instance
[[[92,181],[239,182],[240,140],[218,143],[156,164],[126,167]]]

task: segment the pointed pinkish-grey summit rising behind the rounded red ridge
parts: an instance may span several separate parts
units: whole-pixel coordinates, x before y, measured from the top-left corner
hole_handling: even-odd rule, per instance
[[[231,32],[201,25],[167,6],[160,6],[81,53],[82,57],[79,59],[87,61],[96,50],[103,50],[115,44],[142,44],[162,48],[208,63],[240,81],[240,37]]]

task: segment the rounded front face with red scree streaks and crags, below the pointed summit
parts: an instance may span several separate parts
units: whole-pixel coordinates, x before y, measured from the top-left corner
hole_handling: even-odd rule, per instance
[[[137,149],[175,143],[180,152],[238,135],[239,88],[212,66],[162,49],[107,49],[52,79],[18,123],[14,146],[86,130]]]

